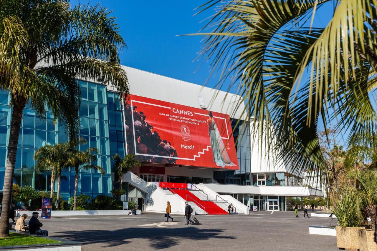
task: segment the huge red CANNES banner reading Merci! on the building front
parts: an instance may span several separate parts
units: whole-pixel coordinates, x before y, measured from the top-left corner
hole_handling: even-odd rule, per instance
[[[139,161],[239,169],[229,115],[130,95],[125,127]]]

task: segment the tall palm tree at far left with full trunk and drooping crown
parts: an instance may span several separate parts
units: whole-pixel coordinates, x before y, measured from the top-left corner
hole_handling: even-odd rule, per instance
[[[9,236],[8,216],[23,109],[52,111],[75,138],[80,86],[90,79],[129,94],[118,49],[126,46],[115,18],[99,5],[71,6],[68,0],[0,0],[0,90],[11,96],[12,121],[6,156],[0,237]]]

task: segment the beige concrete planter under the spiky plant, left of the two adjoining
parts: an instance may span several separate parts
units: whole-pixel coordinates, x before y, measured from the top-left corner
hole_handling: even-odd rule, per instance
[[[338,248],[359,249],[359,231],[364,227],[336,227]]]

